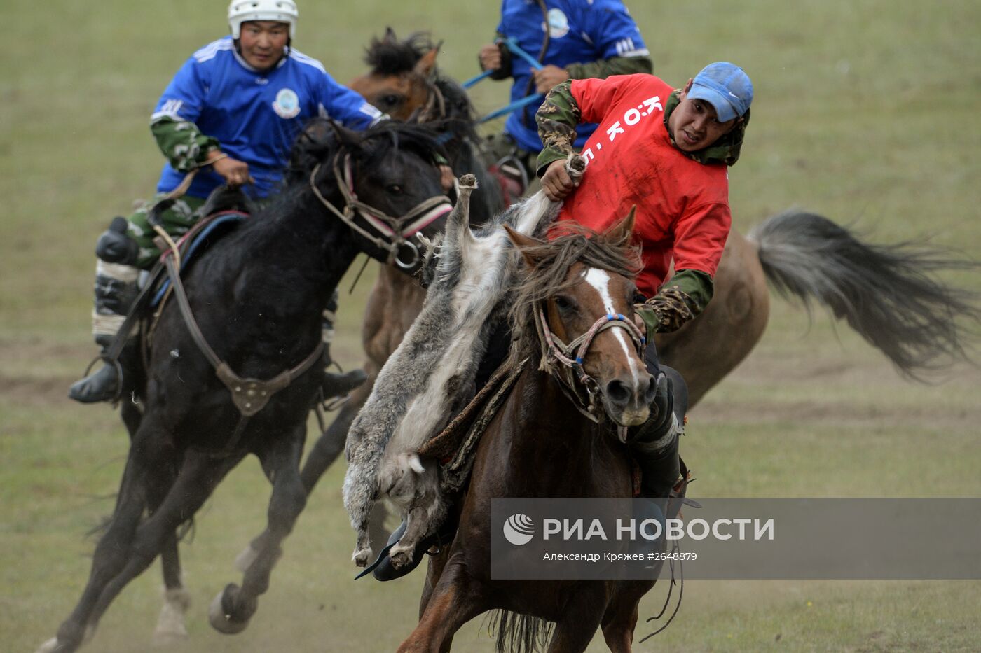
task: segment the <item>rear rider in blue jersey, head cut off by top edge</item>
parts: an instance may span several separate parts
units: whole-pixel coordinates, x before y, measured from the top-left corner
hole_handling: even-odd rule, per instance
[[[547,93],[566,79],[651,73],[650,55],[634,19],[621,0],[502,0],[495,42],[480,51],[481,68],[490,78],[513,77],[511,100]],[[547,25],[547,29],[545,28]],[[510,53],[503,41],[513,38],[542,63],[541,71]],[[512,113],[494,152],[514,154],[535,176],[542,150],[535,112],[538,104]],[[577,127],[575,147],[582,147],[596,126]]]

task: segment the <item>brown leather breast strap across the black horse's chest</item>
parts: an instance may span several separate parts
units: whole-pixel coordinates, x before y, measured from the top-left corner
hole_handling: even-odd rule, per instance
[[[178,300],[178,307],[181,309],[181,317],[183,317],[187,330],[190,331],[191,338],[201,353],[204,354],[204,357],[211,363],[211,366],[215,368],[217,376],[229,388],[229,392],[232,393],[232,402],[243,417],[252,417],[261,411],[275,393],[287,387],[294,378],[305,373],[321,359],[324,342],[318,340],[317,346],[314,347],[309,356],[297,366],[276,377],[269,380],[239,377],[232,372],[228,363],[218,358],[215,350],[204,339],[204,334],[201,333],[201,328],[197,326],[194,315],[191,313],[190,303],[187,301],[187,294],[184,292],[183,283],[181,283],[181,275],[174,266],[174,258],[167,256],[165,264],[167,265],[167,274],[171,277],[171,287],[174,288],[174,294]]]

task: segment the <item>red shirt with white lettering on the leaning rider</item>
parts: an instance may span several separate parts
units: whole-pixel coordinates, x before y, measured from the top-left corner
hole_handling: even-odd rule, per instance
[[[704,165],[675,147],[664,125],[673,88],[653,75],[575,79],[582,122],[598,123],[583,155],[588,167],[559,220],[601,231],[637,205],[635,233],[644,270],[638,288],[656,294],[675,270],[714,276],[729,235],[729,176],[723,164]]]

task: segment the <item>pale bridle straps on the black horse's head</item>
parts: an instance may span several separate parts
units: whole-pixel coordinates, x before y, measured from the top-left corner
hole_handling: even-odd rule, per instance
[[[341,174],[341,155],[343,155],[343,174]],[[327,198],[317,187],[317,174],[320,164],[310,173],[310,187],[317,199],[328,208],[345,225],[360,233],[364,238],[373,242],[379,249],[388,252],[386,263],[395,265],[402,270],[412,270],[419,263],[419,248],[409,238],[419,238],[420,231],[435,223],[453,210],[453,205],[445,195],[434,195],[409,209],[397,218],[387,215],[375,207],[365,204],[358,199],[354,192],[354,179],[351,173],[351,155],[337,152],[333,162],[334,176],[340,195],[344,198],[344,209],[337,208],[327,201]],[[381,235],[375,235],[354,222],[355,216],[368,223]]]

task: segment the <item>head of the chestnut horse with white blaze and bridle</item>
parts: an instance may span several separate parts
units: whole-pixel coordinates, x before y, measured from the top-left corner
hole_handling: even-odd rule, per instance
[[[525,261],[511,309],[525,354],[541,356],[542,369],[587,417],[618,427],[644,424],[655,392],[634,320],[633,226],[632,211],[603,233],[560,223],[564,233],[548,242],[508,229]]]

